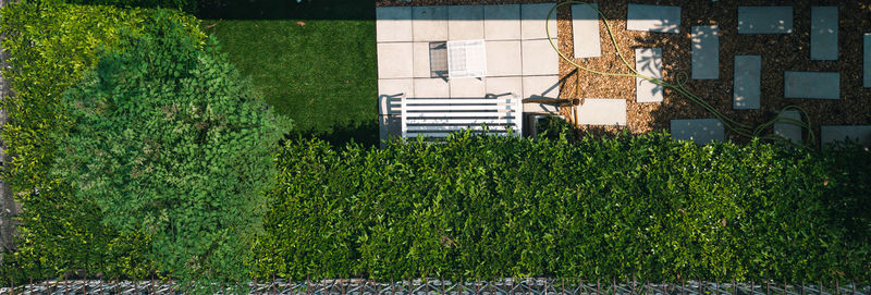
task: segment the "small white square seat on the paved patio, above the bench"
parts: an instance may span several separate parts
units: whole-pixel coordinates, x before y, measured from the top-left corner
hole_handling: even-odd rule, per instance
[[[483,78],[487,75],[487,51],[483,40],[447,41],[447,77]]]

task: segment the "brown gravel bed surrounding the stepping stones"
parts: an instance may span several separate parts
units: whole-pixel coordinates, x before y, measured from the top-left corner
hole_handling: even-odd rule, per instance
[[[382,5],[436,5],[436,4],[499,4],[499,3],[542,3],[553,1],[513,0],[378,0]],[[562,2],[562,1],[560,1]],[[758,125],[771,120],[775,111],[789,105],[803,108],[819,134],[819,125],[825,124],[871,124],[871,89],[862,88],[862,34],[871,32],[871,0],[860,1],[771,1],[771,0],[608,0],[598,1],[615,34],[621,52],[634,65],[635,48],[658,47],[663,49],[663,77],[674,82],[676,74],[691,70],[690,27],[694,25],[720,26],[720,79],[692,81],[686,87],[707,99],[725,115],[746,124]],[[679,5],[682,23],[679,34],[662,34],[626,30],[627,4]],[[792,5],[794,25],[792,34],[738,35],[738,5]],[[812,5],[838,5],[839,32],[837,61],[810,60],[810,11]],[[557,13],[560,47],[567,57],[574,56],[572,45],[571,8],[562,7]],[[628,73],[615,54],[614,46],[608,38],[604,23],[600,21],[602,36],[602,58],[576,60],[580,65],[603,71]],[[733,61],[735,56],[762,56],[762,94],[759,110],[733,110]],[[841,94],[838,100],[784,99],[784,71],[825,71],[841,72]],[[635,78],[608,77],[586,72],[577,73],[567,62],[560,63],[564,98],[626,98],[626,127],[581,127],[591,133],[613,133],[626,128],[630,133],[646,133],[653,130],[668,130],[672,119],[713,118],[701,107],[683,96],[666,89],[662,103],[636,103]],[[568,114],[568,110],[564,110]],[[571,115],[569,115],[571,118]],[[731,135],[732,139],[739,139]]]

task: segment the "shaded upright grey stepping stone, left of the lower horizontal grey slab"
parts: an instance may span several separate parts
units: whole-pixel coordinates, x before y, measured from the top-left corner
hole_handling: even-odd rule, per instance
[[[759,109],[760,75],[762,57],[736,56],[732,108],[736,110]]]

